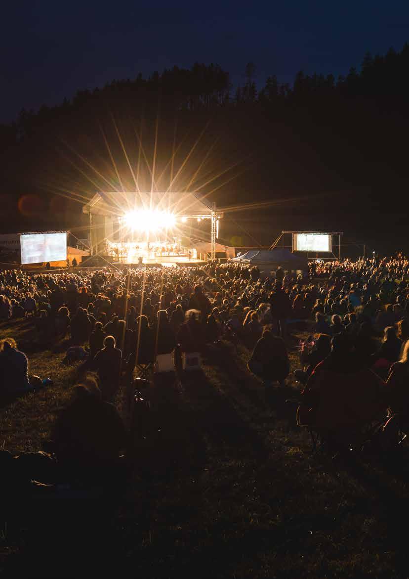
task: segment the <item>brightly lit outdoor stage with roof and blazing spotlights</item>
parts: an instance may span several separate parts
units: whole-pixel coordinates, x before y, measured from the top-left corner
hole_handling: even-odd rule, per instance
[[[206,197],[168,190],[95,193],[83,206],[89,215],[91,255],[129,265],[197,263],[207,255],[214,259],[223,212]],[[209,240],[200,229],[202,222],[210,226]],[[199,248],[203,244],[208,248]]]

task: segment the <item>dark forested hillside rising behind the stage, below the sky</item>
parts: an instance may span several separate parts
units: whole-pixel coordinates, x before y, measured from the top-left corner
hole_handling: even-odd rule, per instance
[[[407,250],[408,72],[408,45],[345,78],[270,76],[259,90],[252,64],[234,89],[218,65],[195,64],[23,110],[0,126],[1,229],[73,228],[95,190],[172,179],[222,207],[266,202],[226,214],[227,242],[301,228]]]

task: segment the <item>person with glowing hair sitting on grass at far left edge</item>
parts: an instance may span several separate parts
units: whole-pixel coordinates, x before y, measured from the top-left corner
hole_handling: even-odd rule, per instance
[[[38,376],[28,376],[28,359],[17,350],[16,340],[0,341],[0,396],[19,396],[35,390],[42,381]]]

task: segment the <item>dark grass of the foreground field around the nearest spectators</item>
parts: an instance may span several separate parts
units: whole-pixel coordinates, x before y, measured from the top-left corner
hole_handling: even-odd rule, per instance
[[[61,364],[58,345],[40,351],[30,324],[12,333],[31,371],[54,383],[2,409],[0,444],[35,451],[79,367]],[[0,516],[3,576],[407,577],[406,453],[384,463],[312,455],[285,404],[296,384],[264,390],[248,357],[222,342],[200,375],[156,383],[155,435],[125,492],[47,497],[30,516],[21,505]]]

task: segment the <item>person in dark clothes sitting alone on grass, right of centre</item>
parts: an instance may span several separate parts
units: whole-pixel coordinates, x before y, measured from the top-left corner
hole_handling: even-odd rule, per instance
[[[248,369],[261,378],[265,386],[269,386],[271,382],[285,386],[290,362],[284,340],[265,329],[253,350]]]

